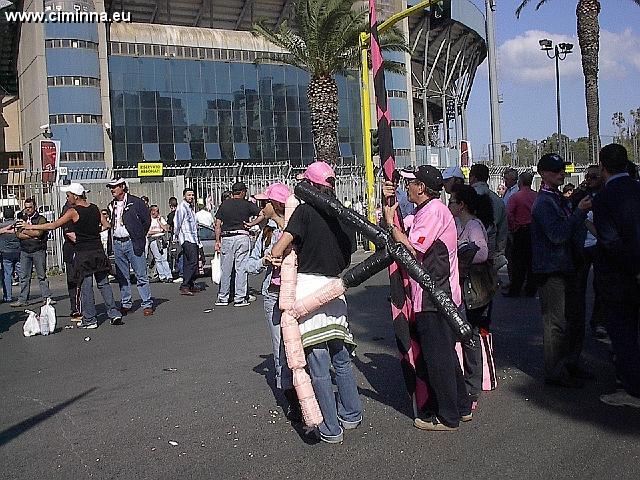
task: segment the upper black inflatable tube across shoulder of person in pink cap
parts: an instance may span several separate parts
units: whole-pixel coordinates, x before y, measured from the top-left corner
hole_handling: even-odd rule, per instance
[[[308,182],[300,182],[294,192],[298,198],[306,203],[324,211],[328,215],[338,217],[342,222],[353,226],[366,238],[371,240],[376,247],[384,248],[389,241],[389,233],[377,225],[369,222],[364,215],[345,207],[337,198],[320,193],[320,191]]]

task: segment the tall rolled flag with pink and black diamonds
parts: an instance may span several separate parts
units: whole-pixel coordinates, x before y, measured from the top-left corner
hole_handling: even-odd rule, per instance
[[[378,144],[380,163],[385,180],[393,178],[396,161],[393,154],[393,134],[391,132],[391,112],[387,103],[384,69],[382,68],[382,51],[378,38],[378,20],[376,2],[369,0],[369,16],[371,21],[371,63],[373,67],[373,85],[376,95],[376,118],[378,121]],[[400,209],[396,210],[394,223],[404,230]],[[391,287],[391,314],[396,342],[400,350],[400,362],[409,394],[415,400],[414,408],[423,409],[427,401],[427,384],[425,368],[417,340],[415,318],[411,302],[409,277],[397,263],[389,267],[389,284]],[[416,412],[417,413],[417,412]]]

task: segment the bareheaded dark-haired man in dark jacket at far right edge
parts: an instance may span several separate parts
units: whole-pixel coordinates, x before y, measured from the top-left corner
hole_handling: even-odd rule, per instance
[[[600,150],[605,186],[593,201],[598,236],[594,273],[623,387],[600,400],[640,408],[640,184],[631,179],[627,165],[622,145]]]

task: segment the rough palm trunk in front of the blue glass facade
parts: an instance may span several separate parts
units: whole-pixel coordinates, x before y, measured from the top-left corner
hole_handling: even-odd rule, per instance
[[[307,89],[316,159],[338,161],[338,85],[333,77],[312,77]]]

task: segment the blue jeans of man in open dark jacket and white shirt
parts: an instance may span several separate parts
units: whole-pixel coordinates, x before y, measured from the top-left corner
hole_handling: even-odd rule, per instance
[[[131,280],[129,278],[129,265],[136,274],[138,293],[142,300],[142,308],[153,308],[149,275],[147,274],[147,259],[144,255],[136,255],[133,252],[131,240],[120,242],[113,241],[113,255],[116,258],[116,280],[120,285],[120,303],[124,308],[131,308]],[[84,312],[83,312],[84,313]]]

